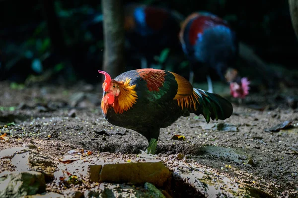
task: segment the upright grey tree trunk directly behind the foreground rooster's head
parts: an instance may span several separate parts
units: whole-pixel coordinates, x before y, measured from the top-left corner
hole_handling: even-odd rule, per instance
[[[115,78],[124,71],[124,9],[122,0],[101,0],[104,29],[103,70]]]

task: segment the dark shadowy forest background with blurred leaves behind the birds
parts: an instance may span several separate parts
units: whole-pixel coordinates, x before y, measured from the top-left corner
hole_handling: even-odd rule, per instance
[[[287,0],[135,2],[167,7],[184,16],[200,10],[213,12],[227,20],[239,40],[266,63],[296,68],[298,41]],[[45,13],[51,5],[60,24],[49,26],[46,17],[51,20],[55,16]],[[0,13],[0,80],[24,83],[30,75],[44,75],[52,68],[47,78],[98,82],[96,71],[102,66],[103,33],[98,27],[86,28],[86,24],[101,13],[100,0],[0,0]],[[50,39],[53,37],[56,37],[54,43]],[[183,52],[180,61],[186,61]],[[127,59],[126,65],[136,65],[133,68],[137,68],[137,64]],[[179,64],[173,67],[179,67]]]

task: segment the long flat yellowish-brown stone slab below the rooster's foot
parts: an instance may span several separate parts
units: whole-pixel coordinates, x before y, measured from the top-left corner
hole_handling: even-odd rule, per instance
[[[134,185],[149,182],[157,187],[162,187],[170,177],[169,169],[158,160],[90,165],[88,171],[91,182],[129,182]]]

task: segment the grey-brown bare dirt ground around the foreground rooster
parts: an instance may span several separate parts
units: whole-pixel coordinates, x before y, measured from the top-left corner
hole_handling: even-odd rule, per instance
[[[53,158],[74,148],[132,158],[148,146],[137,132],[113,126],[103,118],[101,85],[80,82],[72,87],[12,89],[8,83],[1,83],[0,92],[0,132],[9,137],[9,141],[0,142],[0,150],[32,143]],[[211,168],[211,175],[227,174],[268,196],[298,197],[295,96],[298,89],[251,94],[241,104],[233,101],[229,119],[208,125],[203,116],[181,117],[160,130],[157,156],[174,168],[177,159],[172,156],[182,153],[188,163]],[[4,125],[12,121],[15,126]],[[291,127],[266,130],[285,121],[292,121]],[[221,126],[227,128],[221,130],[214,123],[224,123]],[[171,140],[175,134],[185,136],[185,140]],[[0,172],[13,169],[0,163]]]

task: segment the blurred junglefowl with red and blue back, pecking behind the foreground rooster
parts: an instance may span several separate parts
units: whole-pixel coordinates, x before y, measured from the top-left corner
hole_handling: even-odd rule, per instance
[[[194,70],[215,70],[220,78],[230,85],[234,98],[248,95],[249,81],[238,76],[233,68],[238,56],[238,41],[235,33],[222,18],[209,12],[189,15],[179,33],[182,49],[190,60],[189,80],[193,83]],[[196,68],[197,65],[200,67]],[[210,76],[207,76],[209,91],[213,93]]]

